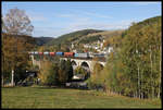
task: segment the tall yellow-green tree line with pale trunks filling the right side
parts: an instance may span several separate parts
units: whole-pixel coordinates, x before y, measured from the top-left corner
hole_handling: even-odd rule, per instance
[[[137,98],[161,98],[161,17],[133,25],[121,36],[108,40],[114,49],[105,68],[95,72],[90,84],[104,86],[110,94]],[[99,75],[100,74],[100,75]]]

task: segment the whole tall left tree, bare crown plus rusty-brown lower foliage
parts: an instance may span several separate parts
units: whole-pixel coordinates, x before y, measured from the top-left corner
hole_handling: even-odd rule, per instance
[[[10,9],[3,17],[2,25],[3,68],[12,72],[22,69],[21,66],[26,68],[27,51],[33,48],[34,44],[34,39],[29,36],[34,27],[28,16],[23,10]]]

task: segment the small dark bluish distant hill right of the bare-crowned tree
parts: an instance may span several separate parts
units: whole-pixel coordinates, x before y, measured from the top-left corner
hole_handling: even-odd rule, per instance
[[[48,44],[53,37],[34,37],[37,46],[43,46],[45,44]]]

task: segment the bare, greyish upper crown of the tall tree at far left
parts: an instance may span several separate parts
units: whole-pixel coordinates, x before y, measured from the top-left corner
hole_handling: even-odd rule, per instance
[[[34,26],[24,10],[10,9],[3,19],[3,32],[12,35],[32,35]]]

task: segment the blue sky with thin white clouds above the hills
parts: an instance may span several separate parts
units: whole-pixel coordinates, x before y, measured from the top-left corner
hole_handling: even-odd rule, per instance
[[[59,37],[80,29],[126,29],[133,22],[162,15],[155,2],[2,2],[2,16],[10,9],[24,10],[34,37]]]

